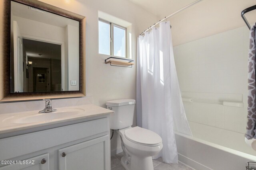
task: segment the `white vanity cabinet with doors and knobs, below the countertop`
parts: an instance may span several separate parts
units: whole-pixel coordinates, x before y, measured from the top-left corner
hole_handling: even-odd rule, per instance
[[[33,160],[34,164],[0,164],[0,170],[110,170],[109,134],[106,114],[3,138],[0,160]]]

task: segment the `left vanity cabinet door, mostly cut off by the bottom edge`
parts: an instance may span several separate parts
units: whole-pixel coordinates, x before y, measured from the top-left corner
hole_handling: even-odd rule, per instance
[[[13,161],[13,160],[12,160]],[[18,162],[16,162],[18,161]],[[17,164],[10,164],[0,167],[0,170],[49,170],[49,154],[42,154],[33,158],[14,160]],[[30,161],[30,162],[29,162]]]

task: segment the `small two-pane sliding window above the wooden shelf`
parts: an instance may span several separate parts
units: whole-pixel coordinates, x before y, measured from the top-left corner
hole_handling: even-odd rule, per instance
[[[99,18],[99,53],[126,57],[126,27]]]

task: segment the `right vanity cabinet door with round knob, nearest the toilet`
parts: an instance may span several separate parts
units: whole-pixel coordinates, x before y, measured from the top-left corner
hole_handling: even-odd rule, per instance
[[[109,136],[59,150],[60,170],[109,170]]]

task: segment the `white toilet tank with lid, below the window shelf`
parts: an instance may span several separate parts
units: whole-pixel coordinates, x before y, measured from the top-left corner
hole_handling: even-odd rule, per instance
[[[133,123],[134,99],[120,99],[106,102],[107,109],[113,110],[110,114],[110,129],[124,129]]]

